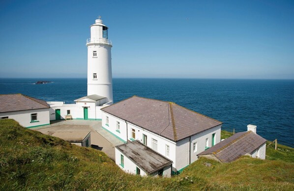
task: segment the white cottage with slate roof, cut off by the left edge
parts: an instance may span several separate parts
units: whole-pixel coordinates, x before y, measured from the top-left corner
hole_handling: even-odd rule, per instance
[[[14,119],[23,127],[49,125],[50,106],[23,94],[0,95],[0,119]]]

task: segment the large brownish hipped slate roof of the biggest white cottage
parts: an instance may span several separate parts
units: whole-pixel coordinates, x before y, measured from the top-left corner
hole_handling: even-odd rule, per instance
[[[223,124],[172,102],[137,96],[101,110],[173,141]]]

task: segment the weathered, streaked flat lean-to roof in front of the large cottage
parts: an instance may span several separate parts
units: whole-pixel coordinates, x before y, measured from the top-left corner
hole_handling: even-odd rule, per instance
[[[148,174],[173,164],[173,161],[142,144],[139,140],[118,145],[116,148]]]

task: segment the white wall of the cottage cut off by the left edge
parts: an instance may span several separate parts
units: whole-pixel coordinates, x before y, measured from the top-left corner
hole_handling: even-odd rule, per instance
[[[38,122],[31,122],[31,113],[37,113]],[[33,127],[50,124],[49,108],[0,113],[0,117],[5,116],[8,116],[8,119],[16,120],[23,127]]]

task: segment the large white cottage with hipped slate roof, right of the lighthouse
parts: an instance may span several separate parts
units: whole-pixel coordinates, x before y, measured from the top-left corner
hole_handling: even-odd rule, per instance
[[[139,140],[173,161],[173,173],[220,142],[222,122],[175,103],[131,97],[102,108],[102,127],[123,141]]]

